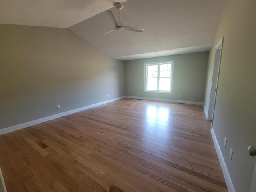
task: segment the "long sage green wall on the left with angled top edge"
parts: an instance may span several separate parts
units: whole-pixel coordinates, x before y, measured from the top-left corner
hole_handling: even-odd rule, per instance
[[[124,62],[64,28],[0,24],[0,69],[0,128],[125,95]]]

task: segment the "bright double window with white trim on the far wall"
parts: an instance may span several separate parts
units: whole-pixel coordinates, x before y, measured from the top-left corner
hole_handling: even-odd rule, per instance
[[[174,61],[145,63],[145,92],[172,93]]]

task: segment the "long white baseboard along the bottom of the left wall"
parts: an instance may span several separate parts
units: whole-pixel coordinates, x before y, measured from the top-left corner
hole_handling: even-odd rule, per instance
[[[6,134],[6,133],[9,133],[9,132],[13,132],[13,131],[16,131],[16,130],[19,130],[19,129],[23,129],[23,128],[26,128],[26,127],[29,127],[29,126],[33,126],[33,125],[36,125],[36,124],[39,124],[39,123],[42,123],[42,122],[46,122],[46,121],[49,121],[49,120],[53,120],[53,119],[56,119],[56,118],[60,118],[60,117],[66,116],[66,115],[70,115],[72,113],[76,113],[76,112],[79,112],[79,111],[90,109],[90,108],[93,108],[93,107],[96,107],[96,106],[100,106],[100,105],[103,105],[103,104],[106,104],[106,103],[109,103],[109,102],[112,102],[112,101],[116,101],[116,100],[119,100],[119,99],[122,99],[122,98],[126,98],[126,96],[106,100],[106,101],[99,102],[99,103],[96,103],[96,104],[84,106],[84,107],[81,107],[81,108],[77,108],[77,109],[73,109],[73,110],[70,110],[70,111],[58,113],[58,114],[51,115],[51,116],[48,116],[48,117],[36,119],[36,120],[30,121],[30,122],[26,122],[26,123],[10,126],[10,127],[4,128],[4,129],[0,129],[0,135]]]

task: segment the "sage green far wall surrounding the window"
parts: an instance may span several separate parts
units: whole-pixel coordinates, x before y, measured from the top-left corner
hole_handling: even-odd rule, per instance
[[[144,92],[144,63],[167,60],[174,60],[172,94]],[[208,52],[125,61],[126,95],[203,102],[207,63]]]

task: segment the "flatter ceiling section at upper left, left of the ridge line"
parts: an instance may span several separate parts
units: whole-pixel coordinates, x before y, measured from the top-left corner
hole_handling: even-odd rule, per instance
[[[0,23],[69,28],[113,7],[113,2],[114,0],[0,0]]]

